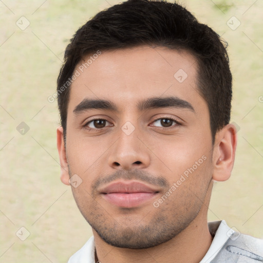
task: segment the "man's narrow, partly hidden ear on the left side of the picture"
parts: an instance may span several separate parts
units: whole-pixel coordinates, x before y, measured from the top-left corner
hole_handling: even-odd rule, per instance
[[[64,184],[70,185],[69,173],[68,173],[68,162],[67,162],[62,127],[57,128],[57,147],[58,147],[59,156],[60,156],[60,167],[61,167],[60,180]]]

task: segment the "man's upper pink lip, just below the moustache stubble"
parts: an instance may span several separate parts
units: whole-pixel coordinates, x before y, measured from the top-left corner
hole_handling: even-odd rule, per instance
[[[154,187],[148,186],[144,183],[137,181],[117,181],[102,187],[99,190],[102,194],[110,193],[157,193],[159,192]]]

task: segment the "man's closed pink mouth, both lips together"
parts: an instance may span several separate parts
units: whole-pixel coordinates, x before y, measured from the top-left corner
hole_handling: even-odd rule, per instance
[[[120,208],[137,207],[158,193],[158,189],[136,181],[119,181],[109,184],[100,190],[102,197]]]

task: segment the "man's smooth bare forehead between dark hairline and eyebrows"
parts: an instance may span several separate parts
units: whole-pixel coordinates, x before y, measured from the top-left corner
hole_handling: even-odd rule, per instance
[[[136,107],[143,98],[161,96],[186,101],[198,97],[196,103],[204,103],[197,92],[196,59],[184,50],[139,46],[102,51],[83,58],[77,71],[69,111],[84,98],[114,101],[121,110]]]

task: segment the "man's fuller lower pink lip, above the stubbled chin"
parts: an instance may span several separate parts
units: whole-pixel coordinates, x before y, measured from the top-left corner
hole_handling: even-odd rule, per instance
[[[103,197],[110,203],[122,208],[133,208],[149,199],[153,198],[156,193],[110,193],[104,194]]]

